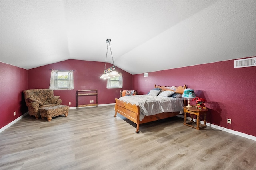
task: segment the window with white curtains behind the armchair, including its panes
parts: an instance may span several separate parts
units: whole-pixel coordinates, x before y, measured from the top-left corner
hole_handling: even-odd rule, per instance
[[[73,70],[52,70],[50,87],[52,90],[74,89]]]

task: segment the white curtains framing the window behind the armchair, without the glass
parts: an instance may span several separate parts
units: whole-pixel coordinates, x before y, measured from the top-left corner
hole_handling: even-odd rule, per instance
[[[50,80],[50,87],[49,89],[52,90],[61,90],[61,89],[68,89],[72,90],[74,89],[74,76],[73,76],[73,70],[64,70],[64,71],[59,71],[59,72],[66,72],[68,77],[66,78],[67,80],[67,87],[59,87],[58,83],[58,70],[52,70],[51,72],[51,80]],[[63,80],[62,80],[63,81]]]

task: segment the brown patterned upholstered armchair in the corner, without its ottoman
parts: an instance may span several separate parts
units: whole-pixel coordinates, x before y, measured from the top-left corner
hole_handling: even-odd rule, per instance
[[[43,107],[57,106],[61,104],[60,96],[53,96],[53,90],[50,89],[31,89],[23,91],[25,102],[28,106],[28,114],[38,119],[40,109]]]

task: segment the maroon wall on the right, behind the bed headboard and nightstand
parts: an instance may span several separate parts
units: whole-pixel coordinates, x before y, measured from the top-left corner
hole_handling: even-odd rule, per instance
[[[207,100],[207,122],[256,136],[256,67],[234,68],[234,60],[184,68],[149,72],[133,76],[133,88],[146,94],[160,86],[187,85],[196,96]],[[192,103],[192,102],[191,102]],[[193,104],[193,103],[192,103]]]

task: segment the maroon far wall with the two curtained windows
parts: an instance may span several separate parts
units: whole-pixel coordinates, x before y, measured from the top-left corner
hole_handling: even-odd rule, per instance
[[[82,60],[66,60],[58,63],[53,63],[38,68],[28,70],[28,89],[34,88],[49,88],[51,70],[75,70],[74,71],[74,90],[54,90],[54,95],[59,95],[62,99],[62,104],[68,105],[71,102],[70,107],[76,107],[76,91],[86,89],[98,90],[98,104],[115,103],[115,98],[120,97],[120,88],[107,89],[107,80],[100,79],[99,77],[104,71],[103,62],[95,61],[82,61]],[[106,68],[112,66],[107,63]],[[123,76],[123,88],[132,88],[132,75],[124,70],[116,67],[117,72],[122,72]],[[83,97],[80,98],[81,101]],[[93,96],[85,96],[84,100],[90,102],[94,100]],[[79,103],[90,104],[90,103]]]

